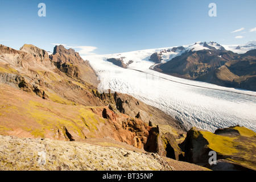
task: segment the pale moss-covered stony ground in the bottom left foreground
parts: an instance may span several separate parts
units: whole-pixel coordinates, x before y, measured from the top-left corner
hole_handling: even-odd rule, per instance
[[[0,135],[0,170],[172,170],[159,155],[82,142]]]

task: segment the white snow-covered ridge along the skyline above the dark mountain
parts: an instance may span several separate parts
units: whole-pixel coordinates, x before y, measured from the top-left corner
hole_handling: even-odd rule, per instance
[[[172,60],[176,56],[180,56],[185,52],[189,51],[200,51],[200,50],[229,50],[236,53],[245,53],[251,49],[256,49],[256,40],[250,41],[246,44],[242,44],[241,46],[238,45],[220,45],[217,42],[196,42],[189,45],[184,46],[175,46],[175,47],[164,47],[164,48],[155,48],[155,49],[144,49],[139,51],[130,51],[130,52],[122,52],[122,53],[113,53],[109,55],[93,55],[93,56],[86,56],[84,59],[92,59],[93,57],[103,57],[104,60],[115,58],[115,59],[121,59],[124,64],[128,65],[128,68],[134,67],[134,64],[146,64],[146,62],[149,62],[148,64],[152,63],[165,63],[167,61]],[[150,59],[152,54],[156,54],[155,57],[158,59],[157,61],[153,61]],[[129,64],[131,61],[133,63]]]

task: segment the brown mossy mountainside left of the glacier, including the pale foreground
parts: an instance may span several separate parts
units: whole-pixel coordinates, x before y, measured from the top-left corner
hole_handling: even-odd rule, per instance
[[[250,59],[254,52],[243,56]],[[127,65],[126,59],[122,61]],[[126,69],[115,67],[128,70],[137,63],[130,62]],[[20,50],[0,45],[0,169],[205,170],[188,163],[186,149],[191,143],[185,141],[191,135],[184,122],[129,94],[100,92],[98,73],[79,53],[64,46],[56,46],[48,55],[31,44]],[[42,159],[44,154],[46,159]],[[242,154],[252,155],[250,150]],[[116,163],[127,159],[133,161],[129,166]],[[243,161],[235,163],[242,165]]]

